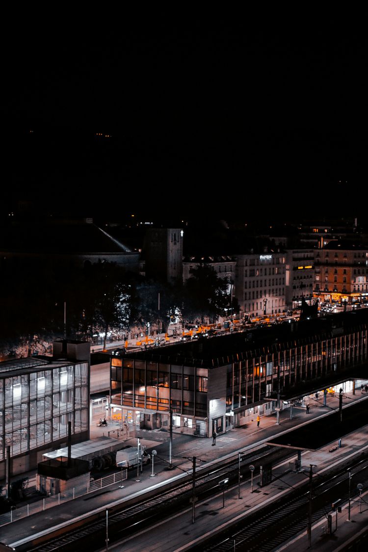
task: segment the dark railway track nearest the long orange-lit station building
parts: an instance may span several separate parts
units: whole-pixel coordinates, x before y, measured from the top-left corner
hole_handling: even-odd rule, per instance
[[[259,473],[263,464],[275,464],[281,460],[295,455],[290,449],[280,449],[270,445],[242,455],[241,475],[248,477],[249,464],[255,466],[255,473]],[[207,465],[198,470],[195,481],[195,495],[199,500],[218,492],[218,481],[229,480],[229,484],[235,484],[239,477],[239,458],[232,457],[226,464]],[[90,513],[90,516],[83,519],[76,519],[70,524],[63,524],[63,527],[56,527],[47,535],[35,535],[17,545],[17,550],[51,552],[75,551],[81,546],[103,545],[106,532],[106,509],[108,509],[109,539],[110,542],[118,540],[124,535],[131,535],[134,532],[146,528],[162,519],[170,516],[190,505],[193,497],[192,475],[188,475],[184,482],[175,484],[170,489],[152,495],[146,500],[138,503],[121,503],[109,507],[106,505]]]

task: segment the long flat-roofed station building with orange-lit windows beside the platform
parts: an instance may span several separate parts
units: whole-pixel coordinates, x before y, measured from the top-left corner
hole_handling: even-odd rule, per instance
[[[368,309],[110,359],[110,416],[207,437],[346,382],[367,363]]]

